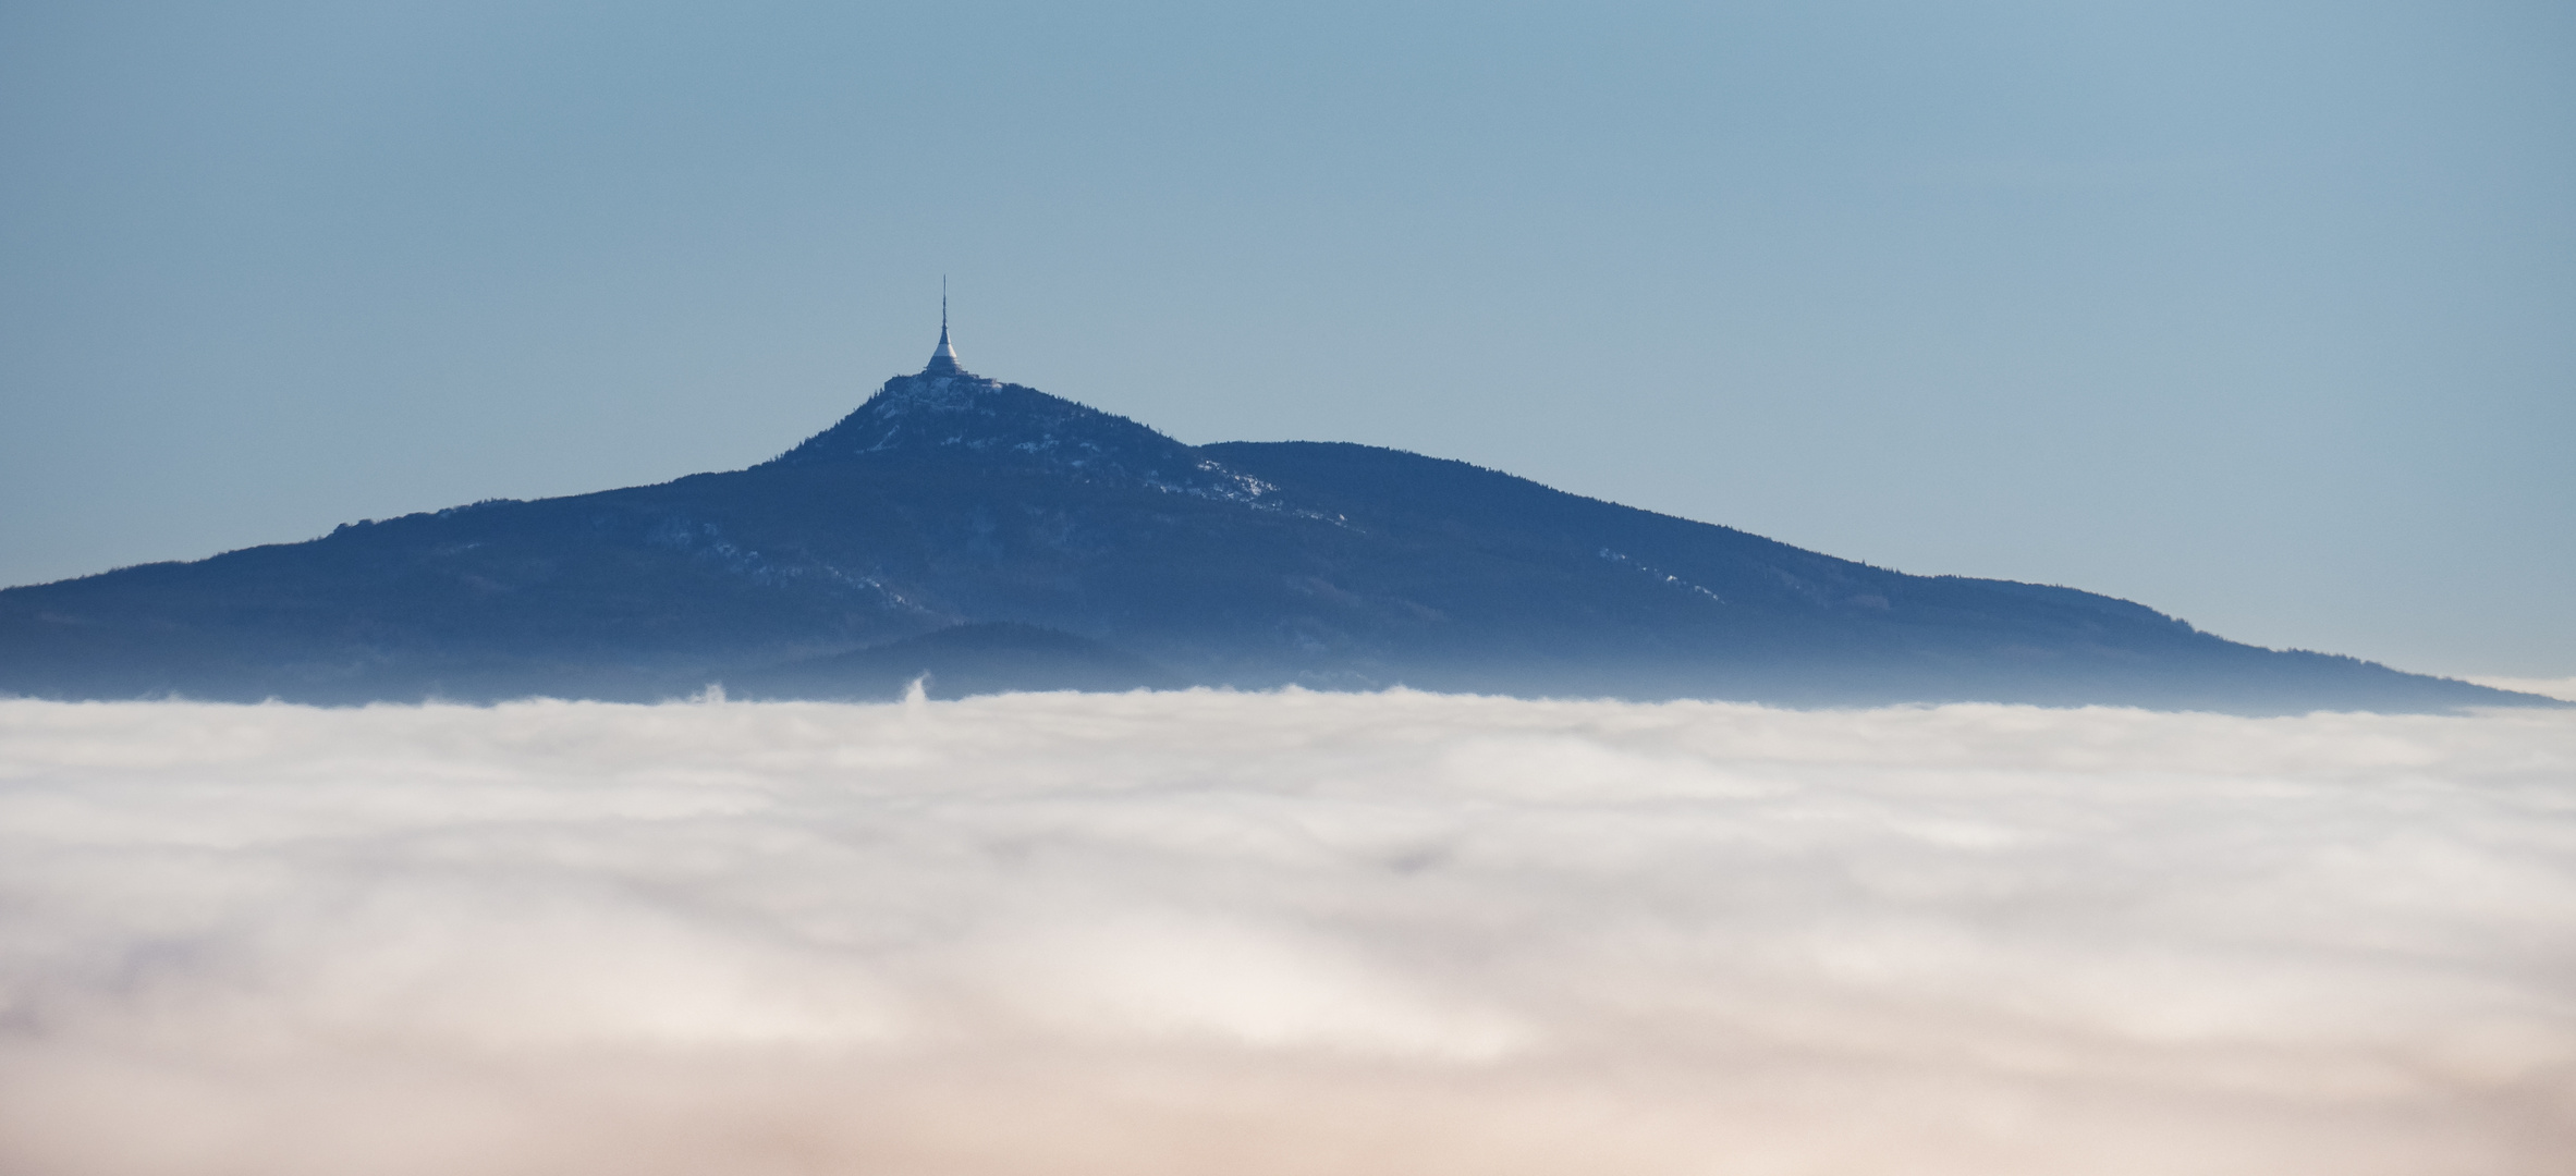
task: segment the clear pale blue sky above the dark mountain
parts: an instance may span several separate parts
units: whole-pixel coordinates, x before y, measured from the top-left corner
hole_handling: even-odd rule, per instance
[[[969,368],[2576,674],[2576,8],[0,3],[0,584]]]

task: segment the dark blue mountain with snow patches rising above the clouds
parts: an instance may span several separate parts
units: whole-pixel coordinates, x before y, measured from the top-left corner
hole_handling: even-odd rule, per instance
[[[2063,587],[1906,576],[1458,461],[1182,445],[930,365],[775,461],[0,592],[0,692],[1280,687],[2239,713],[2553,705]]]

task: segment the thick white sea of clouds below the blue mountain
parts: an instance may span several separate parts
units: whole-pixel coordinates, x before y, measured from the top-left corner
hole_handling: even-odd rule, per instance
[[[2563,1173],[2576,710],[0,703],[0,1171]]]

